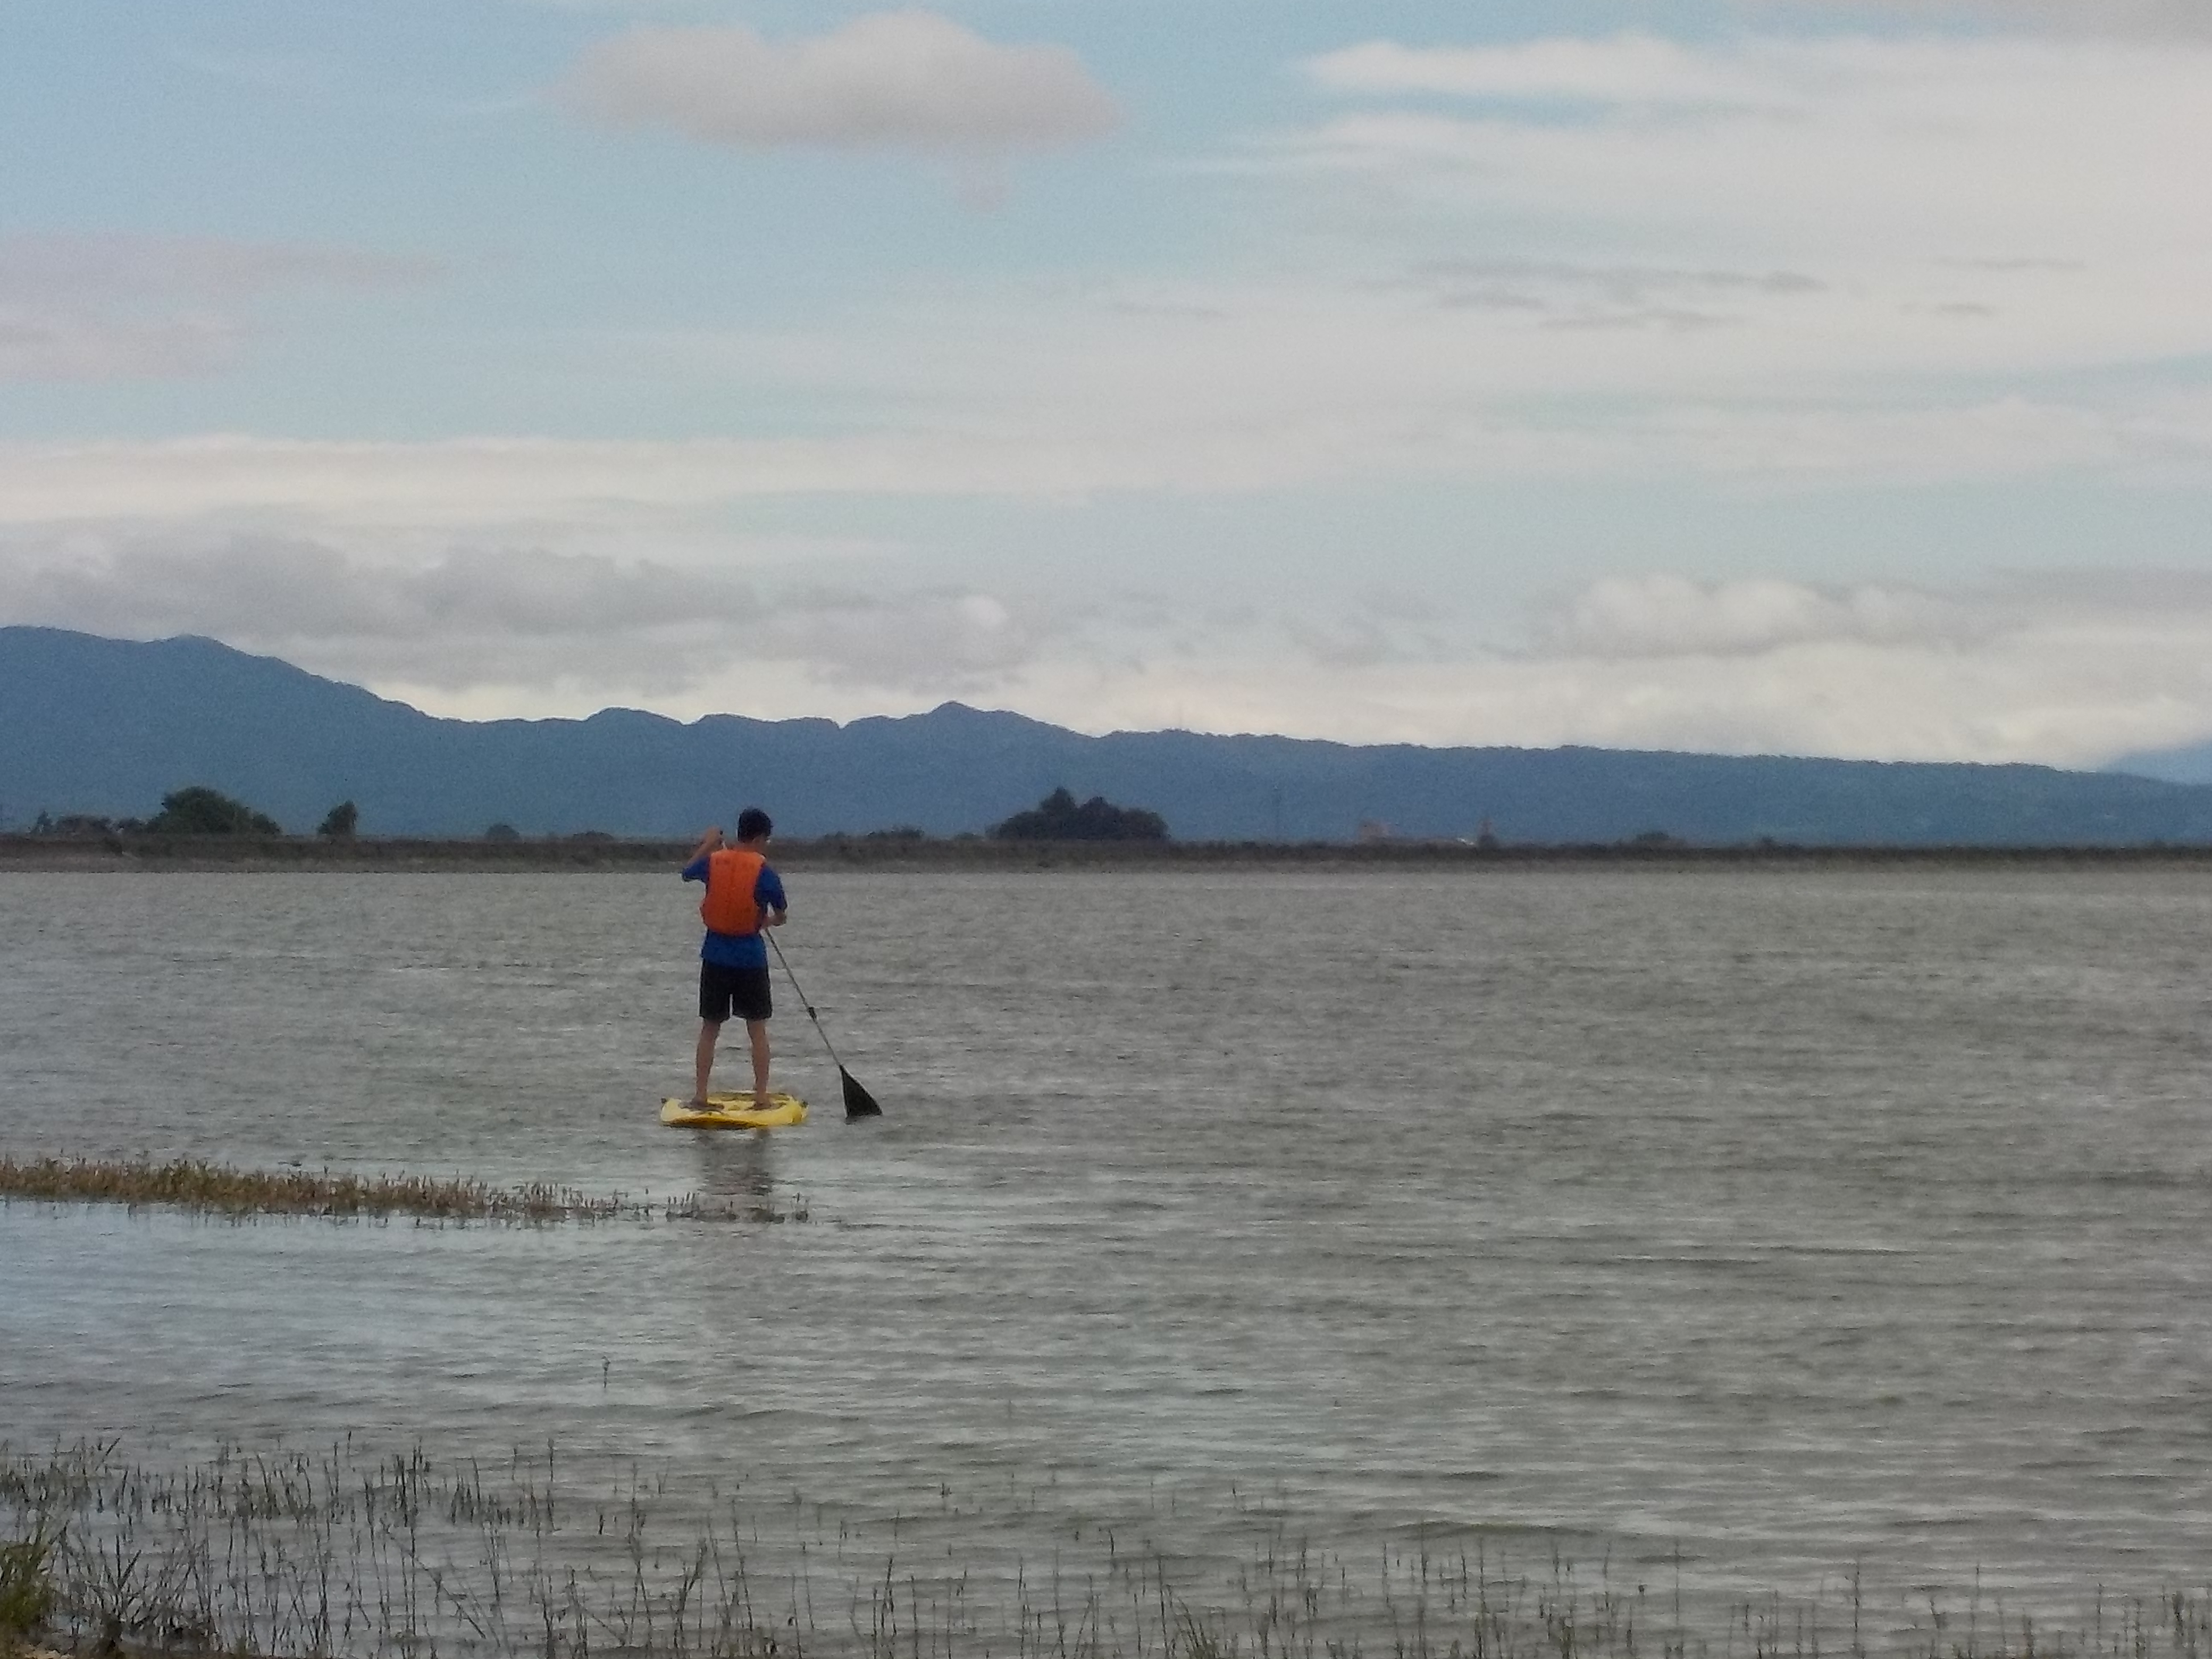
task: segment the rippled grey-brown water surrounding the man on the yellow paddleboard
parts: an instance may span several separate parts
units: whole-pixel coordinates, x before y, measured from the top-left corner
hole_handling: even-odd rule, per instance
[[[655,1121],[695,1031],[672,876],[0,876],[0,1150],[807,1214],[0,1206],[0,1438],[553,1438],[675,1504],[936,1511],[949,1555],[1119,1526],[1230,1557],[1265,1517],[1734,1593],[2201,1579],[2203,876],[792,894],[887,1117],[838,1121],[779,982],[818,1115],[763,1141]]]

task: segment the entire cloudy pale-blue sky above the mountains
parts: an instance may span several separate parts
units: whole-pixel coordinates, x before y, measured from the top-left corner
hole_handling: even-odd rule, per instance
[[[38,9],[0,622],[458,714],[2203,739],[2201,15]]]

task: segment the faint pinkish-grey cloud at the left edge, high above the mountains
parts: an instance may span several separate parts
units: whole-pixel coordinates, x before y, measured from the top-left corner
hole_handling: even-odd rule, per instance
[[[285,288],[394,288],[427,259],[219,237],[0,234],[0,380],[208,374],[252,334],[252,301]]]

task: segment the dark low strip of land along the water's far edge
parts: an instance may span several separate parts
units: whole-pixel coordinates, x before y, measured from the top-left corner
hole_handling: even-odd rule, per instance
[[[0,834],[7,872],[392,872],[392,874],[591,874],[670,869],[690,841],[549,836],[458,841],[429,836],[27,836]],[[816,836],[776,841],[783,869],[1805,869],[1805,867],[2205,867],[2212,845],[1688,845],[1688,843],[1500,843],[1464,841],[987,841],[905,836]]]

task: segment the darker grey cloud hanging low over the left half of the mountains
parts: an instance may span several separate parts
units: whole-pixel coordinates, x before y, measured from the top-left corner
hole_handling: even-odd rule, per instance
[[[684,701],[774,664],[867,695],[978,692],[1035,661],[1064,615],[1024,595],[827,588],[726,568],[451,546],[352,553],[281,535],[0,538],[0,619],[111,637],[210,635],[431,701],[544,692]]]

